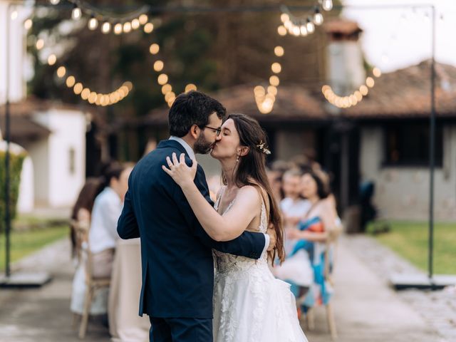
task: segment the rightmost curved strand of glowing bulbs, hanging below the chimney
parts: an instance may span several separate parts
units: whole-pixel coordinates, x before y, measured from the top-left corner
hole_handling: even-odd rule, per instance
[[[373,68],[372,73],[373,76],[377,78],[381,76],[381,71],[377,67]],[[350,108],[360,103],[361,100],[363,100],[363,97],[368,95],[369,88],[373,88],[373,86],[375,86],[375,81],[373,77],[368,76],[366,78],[366,83],[361,85],[358,90],[355,90],[349,95],[337,95],[334,93],[331,86],[328,86],[327,84],[321,87],[321,93],[323,93],[324,97],[329,103],[331,103],[331,105],[335,105],[338,108]]]

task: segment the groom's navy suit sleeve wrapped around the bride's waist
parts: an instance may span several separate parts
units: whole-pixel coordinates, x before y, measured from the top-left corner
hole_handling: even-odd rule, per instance
[[[187,161],[187,164],[191,165],[191,160]],[[207,202],[214,204],[212,199],[209,197],[209,189],[207,187],[206,177],[202,167],[198,165],[197,175],[195,177],[195,185],[198,190],[207,199]],[[251,259],[259,259],[261,253],[264,250],[265,237],[263,233],[244,232],[241,236],[228,242],[217,242],[211,239],[209,235],[204,231],[199,224],[195,214],[193,214],[190,204],[187,202],[184,193],[180,187],[175,189],[175,201],[179,204],[182,214],[185,216],[185,220],[192,229],[192,234],[199,239],[202,244],[206,247],[217,249],[220,252],[239,255],[242,257],[248,257]]]

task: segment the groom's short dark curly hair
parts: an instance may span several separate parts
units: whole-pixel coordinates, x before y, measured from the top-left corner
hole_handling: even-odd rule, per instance
[[[227,110],[222,103],[199,91],[180,94],[172,103],[168,114],[170,135],[182,138],[192,125],[204,129],[212,113],[217,113],[217,117],[224,120]]]

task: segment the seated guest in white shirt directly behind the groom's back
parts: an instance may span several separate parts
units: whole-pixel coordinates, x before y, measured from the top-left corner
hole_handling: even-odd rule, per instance
[[[123,207],[132,167],[114,163],[105,170],[105,187],[93,204],[89,245],[95,278],[110,277],[117,239],[117,221]]]

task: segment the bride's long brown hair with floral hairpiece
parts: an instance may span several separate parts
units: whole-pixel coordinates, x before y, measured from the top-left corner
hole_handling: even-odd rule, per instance
[[[268,252],[268,257],[271,263],[274,263],[276,257],[279,258],[280,262],[283,262],[285,259],[285,250],[281,212],[279,210],[279,205],[274,199],[266,175],[266,133],[261,129],[257,120],[250,118],[247,115],[237,113],[230,114],[227,120],[228,119],[234,121],[234,127],[236,127],[239,135],[240,144],[249,147],[247,155],[239,157],[237,170],[235,171],[233,179],[234,184],[237,185],[237,187],[252,185],[260,188],[261,197],[264,197],[263,194],[264,191],[266,191],[269,199],[268,222],[269,224],[274,225],[276,232],[276,247],[274,247],[271,252]],[[264,145],[261,147],[261,144]],[[222,180],[224,185],[226,185],[226,178],[222,176]]]

